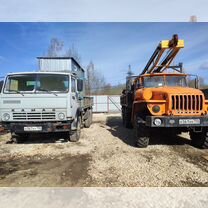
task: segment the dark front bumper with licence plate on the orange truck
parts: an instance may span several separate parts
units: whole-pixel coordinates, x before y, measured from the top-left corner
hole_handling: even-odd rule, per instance
[[[161,120],[161,125],[155,124]],[[139,122],[139,121],[138,121]],[[148,127],[208,127],[208,116],[147,116],[145,125]]]

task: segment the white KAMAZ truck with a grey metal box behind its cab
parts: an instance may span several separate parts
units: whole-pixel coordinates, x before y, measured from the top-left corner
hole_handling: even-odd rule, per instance
[[[91,97],[85,96],[84,69],[71,57],[38,57],[39,71],[10,73],[0,98],[2,125],[14,142],[30,134],[64,132],[78,141],[92,123]]]

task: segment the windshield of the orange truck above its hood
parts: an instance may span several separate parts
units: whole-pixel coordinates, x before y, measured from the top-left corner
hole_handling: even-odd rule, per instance
[[[153,76],[144,77],[144,87],[163,87],[163,86],[178,86],[186,87],[186,77],[185,76]]]

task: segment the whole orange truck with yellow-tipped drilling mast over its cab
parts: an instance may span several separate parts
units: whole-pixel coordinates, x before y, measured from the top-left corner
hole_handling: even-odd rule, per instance
[[[195,88],[188,87],[189,75],[181,63],[171,65],[183,47],[178,35],[161,41],[142,73],[127,77],[120,97],[122,120],[134,128],[138,147],[147,147],[153,135],[162,132],[189,132],[194,146],[208,148],[207,94],[198,89],[197,76]]]

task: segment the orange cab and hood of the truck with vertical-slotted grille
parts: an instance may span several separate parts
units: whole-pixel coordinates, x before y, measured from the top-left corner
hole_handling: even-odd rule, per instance
[[[187,74],[157,73],[135,80],[135,103],[147,102],[154,116],[200,116],[207,114],[205,96],[199,89],[188,87]]]

